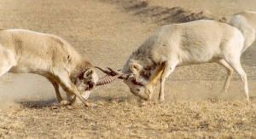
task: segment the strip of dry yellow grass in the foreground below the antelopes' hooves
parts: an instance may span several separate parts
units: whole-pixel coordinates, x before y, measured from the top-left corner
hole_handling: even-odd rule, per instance
[[[247,138],[256,137],[256,105],[244,101],[96,101],[84,106],[26,104],[1,114],[6,137],[40,138]]]

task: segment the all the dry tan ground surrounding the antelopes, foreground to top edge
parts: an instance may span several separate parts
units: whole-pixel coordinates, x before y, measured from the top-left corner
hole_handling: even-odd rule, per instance
[[[256,1],[1,0],[0,27],[58,35],[94,65],[119,69],[162,25],[226,21],[244,9],[256,11]],[[116,81],[94,90],[96,108],[61,106],[45,78],[8,73],[0,78],[0,138],[256,138],[255,55],[255,45],[242,55],[250,105],[237,74],[220,92],[225,70],[217,64],[177,68],[164,104],[156,91],[143,105]]]

